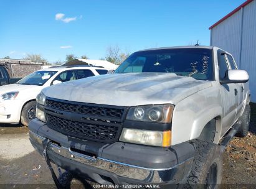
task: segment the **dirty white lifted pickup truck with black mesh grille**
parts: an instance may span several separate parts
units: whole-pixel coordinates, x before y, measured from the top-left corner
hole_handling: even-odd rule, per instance
[[[30,140],[100,184],[216,188],[223,150],[248,133],[248,80],[217,47],[141,50],[113,74],[44,88]]]

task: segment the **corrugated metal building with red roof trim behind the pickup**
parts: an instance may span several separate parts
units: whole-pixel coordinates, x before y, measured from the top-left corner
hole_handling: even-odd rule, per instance
[[[256,103],[256,0],[247,0],[216,24],[210,44],[232,53],[235,62],[249,73],[251,101]]]

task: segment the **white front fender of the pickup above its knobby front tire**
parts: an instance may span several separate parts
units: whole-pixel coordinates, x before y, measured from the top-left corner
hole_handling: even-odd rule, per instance
[[[212,119],[222,117],[222,101],[219,88],[199,91],[176,104],[173,112],[172,145],[196,139]],[[220,124],[221,125],[221,124]],[[219,141],[221,126],[216,127],[214,142]]]

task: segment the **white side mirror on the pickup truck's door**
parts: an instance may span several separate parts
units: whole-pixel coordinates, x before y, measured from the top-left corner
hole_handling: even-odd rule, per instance
[[[249,75],[245,70],[227,70],[225,78],[220,83],[246,83],[248,80]]]

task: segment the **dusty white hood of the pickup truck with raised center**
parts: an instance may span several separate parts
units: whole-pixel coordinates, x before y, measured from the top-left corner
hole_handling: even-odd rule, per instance
[[[69,81],[44,88],[46,96],[69,101],[137,106],[177,104],[181,99],[212,86],[175,73],[116,73]]]

